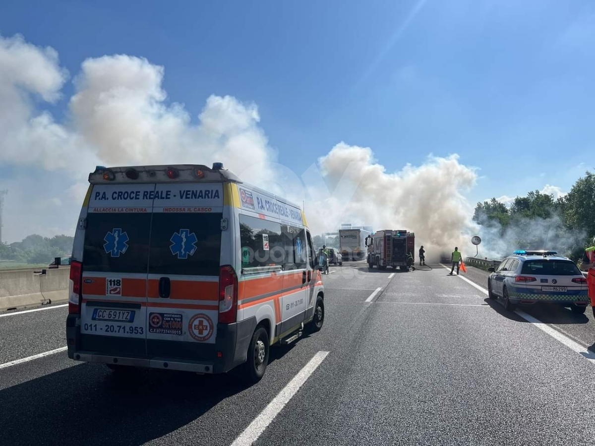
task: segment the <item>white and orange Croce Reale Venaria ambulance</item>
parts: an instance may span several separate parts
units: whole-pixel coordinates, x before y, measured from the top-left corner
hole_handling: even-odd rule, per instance
[[[298,206],[215,163],[97,167],[74,237],[68,357],[259,381],[269,348],[324,323]]]

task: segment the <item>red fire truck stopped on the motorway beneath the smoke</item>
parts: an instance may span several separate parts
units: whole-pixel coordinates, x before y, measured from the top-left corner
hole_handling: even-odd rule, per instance
[[[376,231],[368,238],[368,265],[406,271],[415,263],[415,234],[406,230]]]

